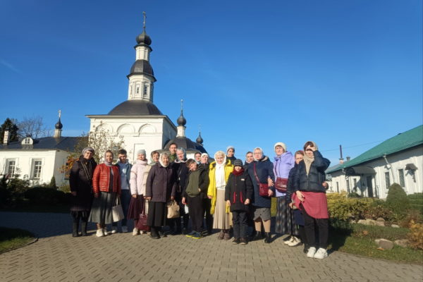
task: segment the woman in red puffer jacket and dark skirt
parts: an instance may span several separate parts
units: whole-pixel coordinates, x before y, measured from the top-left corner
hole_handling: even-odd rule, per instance
[[[92,176],[94,201],[90,221],[97,223],[97,237],[107,235],[106,224],[113,223],[111,207],[114,206],[116,197],[121,195],[121,174],[112,161],[113,152],[107,150],[104,163],[95,168]]]

